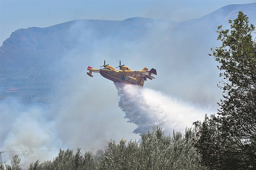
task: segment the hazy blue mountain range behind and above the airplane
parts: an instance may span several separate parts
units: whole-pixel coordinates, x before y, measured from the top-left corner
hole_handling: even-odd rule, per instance
[[[228,19],[234,20],[240,10],[256,25],[256,3],[252,3],[224,6],[184,22],[140,17],[123,21],[83,19],[16,30],[0,47],[2,91],[42,83],[53,85],[86,71],[88,65],[97,63],[99,67],[104,59],[116,61],[116,66],[125,59],[126,65],[161,68],[157,70],[168,79],[158,79],[172,88],[165,83],[158,87],[174,95],[182,95],[179,89],[188,88],[185,84],[191,84],[193,78],[198,87],[191,93],[195,96],[199,87],[209,91],[212,82],[216,86],[213,70],[217,63],[207,54],[219,43],[217,26],[228,28]],[[206,85],[201,87],[203,83]]]

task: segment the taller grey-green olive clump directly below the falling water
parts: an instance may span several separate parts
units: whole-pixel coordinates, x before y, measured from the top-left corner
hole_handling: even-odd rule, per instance
[[[100,170],[172,170],[195,169],[199,166],[198,154],[192,147],[196,130],[186,129],[185,135],[174,132],[164,135],[161,128],[153,126],[153,131],[142,134],[141,142],[119,143],[111,140],[108,149],[101,156]]]

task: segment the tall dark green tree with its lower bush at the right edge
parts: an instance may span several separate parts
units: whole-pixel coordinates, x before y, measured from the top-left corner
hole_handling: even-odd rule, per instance
[[[221,65],[218,87],[223,98],[218,116],[212,115],[201,124],[196,148],[202,163],[210,169],[256,168],[256,42],[255,27],[241,11],[229,20],[231,30],[218,26],[220,47],[212,55]],[[209,54],[210,55],[210,54]]]

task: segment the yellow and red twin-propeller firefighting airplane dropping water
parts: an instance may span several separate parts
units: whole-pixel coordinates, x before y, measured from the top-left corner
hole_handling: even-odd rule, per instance
[[[100,73],[103,77],[106,79],[109,79],[114,82],[122,82],[122,83],[128,83],[132,85],[140,85],[143,87],[144,81],[148,79],[152,80],[155,79],[152,75],[156,74],[156,69],[151,69],[148,71],[148,68],[144,67],[142,70],[135,70],[132,71],[128,67],[121,65],[121,61],[119,64],[119,70],[114,69],[114,67],[111,67],[110,65],[106,65],[104,60],[104,65],[101,66],[104,67],[103,69],[93,69],[92,67],[88,66],[87,70],[89,70],[89,73],[87,74],[90,77],[93,77],[92,72],[94,73]],[[116,67],[116,68],[118,68]]]

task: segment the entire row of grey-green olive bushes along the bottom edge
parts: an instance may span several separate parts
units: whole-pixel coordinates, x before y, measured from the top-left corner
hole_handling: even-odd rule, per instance
[[[139,144],[124,138],[118,143],[110,140],[101,155],[91,152],[82,155],[80,148],[76,154],[70,149],[60,149],[53,161],[37,160],[27,170],[194,170],[200,167],[198,152],[192,147],[196,131],[186,128],[184,135],[173,132],[172,136],[166,136],[162,128],[153,126],[152,132],[142,134]],[[21,170],[18,155],[13,157],[12,166],[6,164],[6,170]]]

